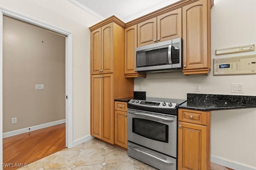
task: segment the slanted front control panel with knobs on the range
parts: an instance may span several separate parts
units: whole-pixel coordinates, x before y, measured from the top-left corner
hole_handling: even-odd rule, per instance
[[[129,104],[133,104],[136,106],[146,106],[146,107],[154,107],[154,108],[168,108],[168,109],[175,109],[176,103],[170,103],[170,102],[151,102],[151,101],[145,101],[145,100],[130,100],[128,102]]]

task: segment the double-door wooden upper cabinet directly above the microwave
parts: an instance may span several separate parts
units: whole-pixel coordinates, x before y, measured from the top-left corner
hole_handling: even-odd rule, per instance
[[[138,47],[181,37],[181,8],[138,23]]]

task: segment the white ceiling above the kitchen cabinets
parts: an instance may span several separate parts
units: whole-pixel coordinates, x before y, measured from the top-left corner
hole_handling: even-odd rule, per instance
[[[179,0],[68,0],[104,20],[116,16],[125,23]]]

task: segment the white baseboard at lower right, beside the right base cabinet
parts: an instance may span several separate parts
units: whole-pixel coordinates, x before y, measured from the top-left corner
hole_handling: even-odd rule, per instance
[[[256,170],[255,166],[250,166],[250,165],[242,164],[240,162],[226,160],[224,158],[220,158],[218,156],[213,156],[213,155],[211,155],[211,162],[222,165],[222,166],[226,166],[228,168],[232,168],[234,170]]]

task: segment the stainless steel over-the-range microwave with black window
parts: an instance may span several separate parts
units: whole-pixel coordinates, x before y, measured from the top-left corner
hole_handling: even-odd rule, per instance
[[[182,71],[182,39],[136,48],[137,72]]]

